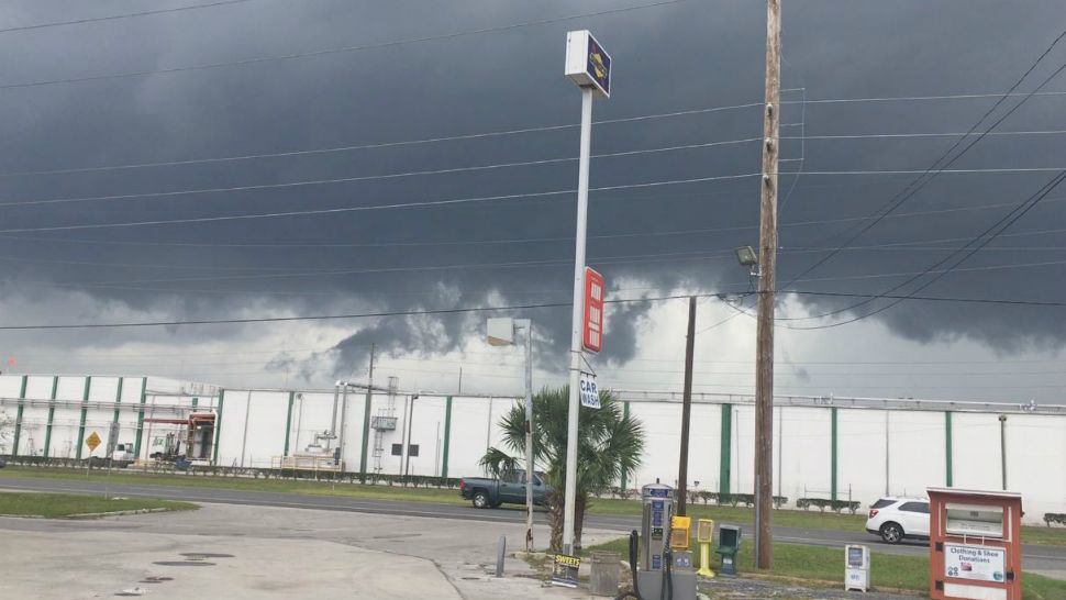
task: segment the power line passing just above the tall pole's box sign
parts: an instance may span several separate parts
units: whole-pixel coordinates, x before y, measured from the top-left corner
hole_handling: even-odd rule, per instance
[[[659,1],[659,2],[652,2],[652,3],[646,3],[646,4],[636,4],[636,5],[632,5],[632,7],[623,7],[623,8],[618,8],[618,9],[608,9],[608,10],[601,10],[601,11],[596,11],[596,12],[586,12],[586,13],[580,13],[580,14],[570,14],[570,15],[566,15],[566,16],[555,16],[555,18],[551,18],[551,19],[540,19],[540,20],[536,20],[536,21],[525,21],[525,22],[521,22],[521,23],[511,23],[511,24],[508,24],[508,25],[497,25],[497,26],[492,26],[492,27],[481,27],[481,29],[477,29],[477,30],[467,30],[467,31],[460,31],[460,32],[454,32],[454,33],[446,33],[446,34],[442,34],[442,35],[429,35],[429,36],[424,36],[424,37],[408,37],[408,38],[404,38],[404,40],[392,40],[392,41],[388,41],[388,42],[376,42],[376,43],[373,43],[373,44],[360,44],[360,45],[353,45],[353,46],[341,46],[341,47],[324,48],[324,49],[311,51],[311,52],[301,52],[301,53],[292,53],[292,54],[281,54],[281,55],[276,55],[276,56],[260,56],[260,57],[254,57],[254,58],[243,58],[243,59],[240,59],[240,60],[225,60],[225,62],[219,62],[219,63],[207,63],[207,64],[202,64],[202,65],[188,65],[188,66],[179,66],[179,67],[167,67],[167,68],[160,68],[160,69],[131,70],[131,71],[125,71],[125,73],[112,73],[112,74],[102,74],[102,75],[89,75],[89,76],[85,76],[85,77],[68,77],[68,78],[60,78],[60,79],[41,79],[41,80],[36,80],[36,81],[24,81],[24,82],[20,82],[20,84],[5,84],[5,85],[0,85],[0,89],[34,88],[34,87],[41,87],[41,86],[53,86],[53,85],[58,85],[58,84],[78,84],[78,82],[85,82],[85,81],[103,81],[103,80],[109,80],[109,79],[127,79],[127,78],[133,78],[133,77],[145,77],[145,76],[148,76],[148,75],[164,75],[164,74],[174,74],[174,73],[188,73],[188,71],[197,71],[197,70],[219,69],[219,68],[223,68],[223,67],[243,67],[243,66],[247,66],[247,65],[258,65],[258,64],[263,64],[263,63],[274,63],[274,62],[278,62],[278,60],[293,60],[293,59],[297,59],[297,58],[308,58],[308,57],[312,57],[312,56],[325,56],[325,55],[331,55],[331,54],[344,54],[344,53],[352,53],[352,52],[362,52],[362,51],[367,51],[367,49],[388,48],[388,47],[401,46],[401,45],[407,45],[407,44],[420,44],[420,43],[425,43],[425,42],[437,42],[437,41],[443,41],[443,40],[454,40],[454,38],[457,38],[457,37],[465,37],[465,36],[469,36],[469,35],[479,35],[479,34],[485,34],[485,33],[498,33],[498,32],[517,30],[517,29],[535,26],[535,25],[547,25],[547,24],[552,24],[552,23],[562,23],[562,22],[565,22],[565,21],[573,21],[573,20],[576,20],[576,19],[585,19],[585,18],[588,18],[588,16],[601,16],[601,15],[607,15],[607,14],[618,14],[618,13],[630,12],[630,11],[635,11],[635,10],[644,10],[644,9],[651,9],[651,8],[656,8],[656,7],[664,7],[664,5],[667,5],[667,4],[679,4],[679,3],[686,2],[686,1],[688,1],[688,0],[663,0],[663,1]]]

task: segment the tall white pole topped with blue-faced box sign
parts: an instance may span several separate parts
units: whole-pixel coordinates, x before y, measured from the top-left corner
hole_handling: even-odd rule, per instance
[[[581,89],[581,153],[577,181],[577,235],[574,248],[574,307],[570,326],[570,402],[566,422],[566,486],[563,552],[574,554],[574,504],[577,500],[577,435],[580,407],[581,342],[585,320],[585,235],[589,203],[589,152],[592,145],[592,98],[611,93],[611,57],[588,31],[566,34],[566,76]]]

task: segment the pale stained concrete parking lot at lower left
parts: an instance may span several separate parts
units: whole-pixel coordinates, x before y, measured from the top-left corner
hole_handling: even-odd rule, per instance
[[[524,527],[230,504],[91,521],[0,518],[0,597],[585,597],[545,589],[514,558],[510,577],[492,577],[500,535],[519,549]],[[535,535],[544,541],[547,530]],[[617,535],[586,534],[588,543]]]

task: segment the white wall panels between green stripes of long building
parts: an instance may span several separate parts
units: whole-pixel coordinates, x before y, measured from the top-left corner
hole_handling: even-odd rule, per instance
[[[80,402],[85,393],[85,377],[59,376],[58,399]],[[93,377],[90,401],[113,402],[118,398],[119,379]],[[14,416],[21,376],[0,376],[0,409]],[[27,399],[23,414],[19,454],[42,455],[47,424],[47,399],[52,393],[53,376],[33,375],[26,379]],[[137,404],[141,400],[142,378],[123,379],[121,402]],[[190,390],[200,388],[188,384],[148,379],[146,416],[173,418],[171,411],[154,410],[154,404],[191,407]],[[212,391],[203,388],[204,391]],[[164,393],[167,391],[167,393]],[[153,393],[156,392],[156,393]],[[302,396],[302,398],[301,398]],[[314,441],[314,434],[327,431],[332,421],[332,390],[295,390],[292,414],[289,418],[290,392],[277,390],[225,390],[220,418],[218,464],[248,467],[269,467],[285,453],[286,423],[289,424],[289,454],[302,452]],[[365,396],[347,395],[343,427],[345,468],[357,471],[363,445],[363,414]],[[388,396],[376,393],[371,399],[371,416],[387,411]],[[344,403],[341,403],[344,405]],[[517,404],[511,398],[455,397],[452,402],[452,429],[447,453],[447,474],[451,477],[482,474],[478,460],[489,446],[502,447],[501,415]],[[410,457],[411,475],[434,476],[443,471],[446,398],[421,396],[414,400],[413,415],[409,396],[395,397],[393,415],[397,429],[381,436],[380,471],[400,474],[403,456],[391,454],[392,444],[400,444],[406,423],[410,422],[410,443],[419,445],[419,456]],[[199,397],[198,410],[212,410],[216,401]],[[407,421],[404,421],[404,410]],[[634,477],[628,481],[636,488],[654,481],[675,485],[680,438],[679,403],[630,402],[630,413],[641,420],[646,434],[646,452]],[[341,410],[337,422],[341,422]],[[721,469],[722,407],[696,403],[692,407],[689,443],[689,487],[719,489]],[[244,429],[247,415],[247,443]],[[730,487],[734,493],[753,490],[754,408],[734,404],[731,409]],[[1000,424],[996,413],[953,412],[953,485],[960,488],[1000,489]],[[87,437],[96,431],[107,441],[113,409],[92,408],[86,416]],[[49,455],[74,457],[78,437],[80,408],[55,410]],[[120,411],[120,443],[132,443],[137,433],[137,411]],[[825,498],[832,474],[832,438],[830,408],[777,407],[775,409],[774,492],[787,496],[791,502],[806,496]],[[1023,495],[1026,521],[1039,521],[1044,512],[1066,512],[1066,415],[1014,413],[1007,421],[1008,487]],[[178,425],[144,425],[142,457],[151,452],[151,440],[167,431],[180,431]],[[887,432],[887,433],[886,433]],[[889,447],[886,480],[886,436]],[[10,443],[11,432],[9,432]],[[370,453],[374,448],[370,431]],[[341,441],[331,442],[335,447]],[[10,448],[8,448],[10,452]],[[101,446],[93,456],[102,456]],[[946,423],[942,411],[837,409],[837,497],[868,504],[885,493],[924,495],[930,486],[947,481]],[[82,456],[88,456],[88,448]],[[780,456],[780,459],[778,458]],[[368,454],[368,470],[376,460]],[[699,486],[695,482],[699,481]],[[778,491],[780,490],[780,491]]]

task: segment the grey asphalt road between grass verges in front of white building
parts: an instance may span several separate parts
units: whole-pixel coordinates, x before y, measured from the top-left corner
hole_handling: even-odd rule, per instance
[[[74,479],[34,479],[3,477],[0,488],[24,489],[34,491],[103,493],[104,484],[97,481],[78,481]],[[436,504],[430,502],[410,502],[402,500],[363,500],[358,498],[342,498],[330,496],[309,496],[301,493],[282,493],[267,491],[178,488],[173,486],[142,486],[129,484],[112,484],[111,493],[125,497],[163,498],[167,500],[186,500],[190,502],[219,502],[225,504],[252,504],[260,507],[286,507],[299,509],[333,510],[347,512],[363,512],[374,514],[397,514],[406,516],[423,516],[429,519],[459,519],[487,522],[519,523],[524,522],[525,511],[520,507],[514,509],[475,509],[471,505]],[[543,512],[534,514],[534,519],[543,523],[546,518]],[[751,531],[749,523],[740,523],[744,531]],[[585,526],[590,529],[617,530],[629,532],[640,527],[640,519],[635,516],[589,514]],[[815,546],[841,547],[844,544],[864,544],[871,546],[870,551],[903,555],[928,555],[929,546],[920,542],[889,545],[880,542],[865,531],[846,532],[832,530],[807,530],[796,527],[774,527],[774,540],[793,544],[809,544]],[[842,555],[843,563],[843,555]],[[1022,560],[1028,571],[1046,573],[1057,578],[1066,578],[1066,547],[1063,546],[1022,546]]]

